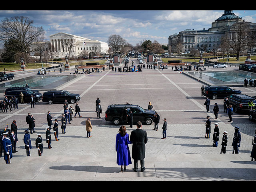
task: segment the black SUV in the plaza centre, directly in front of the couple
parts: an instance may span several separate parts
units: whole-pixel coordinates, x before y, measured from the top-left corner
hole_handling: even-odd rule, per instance
[[[154,114],[156,111],[147,110],[138,105],[130,104],[112,104],[109,105],[105,112],[105,120],[112,121],[114,125],[121,124],[122,121],[126,122],[127,111],[125,109],[130,108],[132,111],[133,122],[142,122],[146,125],[151,125],[153,123]]]

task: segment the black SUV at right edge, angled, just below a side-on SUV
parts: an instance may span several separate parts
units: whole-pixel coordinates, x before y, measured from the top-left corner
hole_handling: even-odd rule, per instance
[[[232,94],[228,97],[230,105],[233,107],[234,112],[249,112],[251,107],[249,106],[250,100],[256,103],[256,99],[243,94]]]

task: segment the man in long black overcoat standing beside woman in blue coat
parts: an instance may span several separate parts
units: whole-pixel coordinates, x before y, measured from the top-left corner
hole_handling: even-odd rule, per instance
[[[137,129],[133,130],[130,135],[130,141],[132,142],[132,159],[134,160],[135,172],[138,171],[138,160],[140,160],[140,169],[143,172],[146,168],[144,166],[144,158],[146,153],[145,144],[148,142],[147,132],[142,130],[142,123],[137,122]]]

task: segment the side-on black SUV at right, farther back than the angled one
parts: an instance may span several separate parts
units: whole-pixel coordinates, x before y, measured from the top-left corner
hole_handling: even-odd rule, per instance
[[[206,86],[204,88],[204,96],[216,99],[216,98],[224,98],[231,94],[242,94],[242,91],[231,89],[226,86]]]

